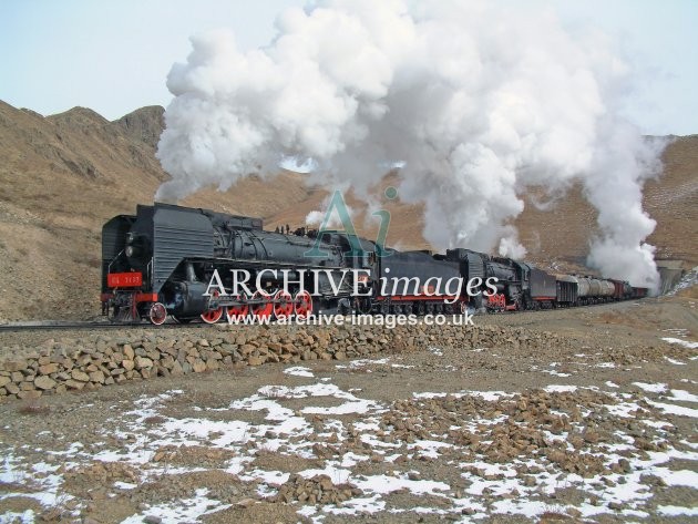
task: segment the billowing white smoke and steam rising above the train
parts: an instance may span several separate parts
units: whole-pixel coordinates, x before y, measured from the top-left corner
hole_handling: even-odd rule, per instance
[[[168,76],[157,155],[172,179],[156,198],[287,158],[368,196],[400,163],[399,196],[424,204],[434,247],[523,257],[512,220],[526,188],[581,181],[598,209],[588,261],[656,284],[641,188],[659,148],[618,116],[629,69],[598,34],[492,3],[327,0],[281,13],[264,49],[242,52],[226,31],[193,38]]]

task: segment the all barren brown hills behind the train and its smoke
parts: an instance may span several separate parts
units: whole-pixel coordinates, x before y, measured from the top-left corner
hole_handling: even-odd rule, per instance
[[[163,111],[142,107],[110,122],[84,107],[44,117],[0,101],[0,321],[99,312],[103,222],[152,203],[167,177],[155,158]],[[658,220],[650,240],[659,256],[695,265],[698,136],[678,137],[665,164],[646,191],[646,208]],[[378,191],[390,178],[383,183]],[[281,172],[271,181],[250,176],[225,193],[205,189],[183,204],[260,216],[274,228],[304,224],[325,197],[306,187],[302,175]],[[349,204],[360,208],[351,197]],[[428,247],[419,208],[400,202],[386,207],[392,214],[390,244]],[[358,218],[362,234],[374,237],[378,224]],[[594,212],[575,189],[553,212],[527,206],[517,225],[534,260],[581,264]]]

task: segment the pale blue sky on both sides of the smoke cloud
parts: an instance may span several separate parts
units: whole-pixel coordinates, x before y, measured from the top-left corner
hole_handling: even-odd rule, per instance
[[[698,0],[496,0],[552,8],[565,24],[619,37],[639,71],[626,113],[648,134],[698,133]],[[274,37],[276,14],[305,0],[1,0],[0,100],[42,114],[75,105],[110,120],[166,105],[166,75],[189,35],[230,28],[243,49]]]

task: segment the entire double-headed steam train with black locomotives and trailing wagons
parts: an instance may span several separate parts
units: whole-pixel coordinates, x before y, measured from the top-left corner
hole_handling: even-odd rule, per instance
[[[236,270],[260,287],[233,294]],[[307,271],[315,278],[294,286]],[[281,276],[291,282],[286,290]],[[444,285],[453,278],[469,286],[454,292]],[[388,279],[394,285],[381,286]],[[213,281],[219,286],[212,290]],[[266,232],[258,218],[161,203],[138,205],[135,215],[115,216],[102,228],[102,314],[115,321],[514,311],[646,295],[626,281],[551,275],[470,249],[387,253],[345,232]]]

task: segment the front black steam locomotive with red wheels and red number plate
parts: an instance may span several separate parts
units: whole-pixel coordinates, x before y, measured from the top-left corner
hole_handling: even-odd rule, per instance
[[[365,260],[345,256],[347,243],[340,235],[324,236],[312,239],[265,232],[258,218],[207,209],[140,205],[136,215],[116,216],[102,229],[103,312],[119,320],[147,318],[156,325],[167,315],[181,322],[201,316],[213,323],[224,311],[233,316],[309,315],[314,294],[321,295],[318,302],[331,309],[349,296],[351,282],[345,281],[330,297],[325,292],[330,288],[327,271],[361,267]],[[314,248],[322,256],[308,256]],[[232,270],[240,269],[252,281],[263,277],[263,289],[249,296],[223,296],[219,289],[206,292],[214,271],[224,288],[239,287],[234,286]],[[276,289],[284,271],[289,280],[297,280],[300,269],[325,271],[309,282],[309,289],[295,295]],[[271,290],[275,295],[269,297],[265,291]]]

